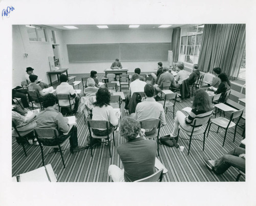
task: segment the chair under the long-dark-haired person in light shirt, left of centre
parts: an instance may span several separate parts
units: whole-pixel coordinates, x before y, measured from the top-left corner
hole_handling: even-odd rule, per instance
[[[89,129],[89,133],[90,133],[90,148],[91,148],[91,156],[93,156],[93,145],[92,145],[92,138],[96,138],[96,139],[107,139],[108,142],[102,142],[102,143],[108,143],[108,147],[109,147],[109,152],[110,152],[110,157],[111,157],[111,150],[110,150],[110,141],[113,140],[114,145],[115,145],[115,134],[114,134],[114,130],[111,132],[110,130],[110,122],[108,121],[101,121],[101,120],[88,120],[88,129]],[[92,129],[103,129],[103,130],[107,130],[108,135],[105,136],[97,136],[93,133]],[[113,135],[113,139],[110,140],[110,136]]]

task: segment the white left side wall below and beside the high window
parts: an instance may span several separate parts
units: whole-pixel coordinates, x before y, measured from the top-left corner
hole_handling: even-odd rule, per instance
[[[48,39],[51,30],[47,29]],[[12,86],[20,85],[21,81],[26,80],[26,68],[34,68],[34,74],[39,79],[43,79],[49,84],[49,77],[46,74],[50,71],[49,56],[54,56],[52,44],[50,42],[30,42],[25,25],[13,25],[12,27]],[[24,53],[28,57],[24,57]],[[67,66],[67,65],[66,65]],[[56,77],[52,78],[52,81]]]

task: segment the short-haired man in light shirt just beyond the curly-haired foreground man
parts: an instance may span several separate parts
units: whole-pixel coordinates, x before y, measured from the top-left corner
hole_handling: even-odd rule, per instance
[[[166,125],[163,106],[154,99],[155,89],[152,84],[146,84],[144,87],[146,98],[138,103],[134,115],[131,115],[137,121],[143,120],[161,120],[161,125]],[[151,135],[156,128],[146,131],[146,135]]]

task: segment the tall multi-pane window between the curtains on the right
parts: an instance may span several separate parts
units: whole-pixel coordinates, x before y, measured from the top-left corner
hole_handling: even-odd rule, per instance
[[[191,64],[198,63],[204,25],[183,28],[179,60]]]

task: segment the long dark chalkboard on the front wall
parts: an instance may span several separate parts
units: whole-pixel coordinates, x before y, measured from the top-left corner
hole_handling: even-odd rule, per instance
[[[170,43],[67,44],[69,62],[167,61]]]

